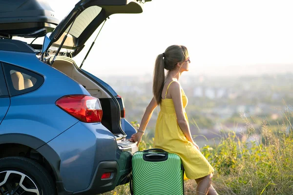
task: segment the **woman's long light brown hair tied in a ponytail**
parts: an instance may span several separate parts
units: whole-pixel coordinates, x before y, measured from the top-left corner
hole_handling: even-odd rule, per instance
[[[183,45],[171,45],[163,54],[157,56],[153,74],[153,95],[158,104],[162,101],[162,91],[165,83],[165,69],[176,68],[177,63],[188,58],[188,50]]]

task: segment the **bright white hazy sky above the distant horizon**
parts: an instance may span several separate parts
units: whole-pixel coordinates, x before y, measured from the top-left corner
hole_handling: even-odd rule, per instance
[[[62,20],[78,0],[47,1]],[[152,74],[156,56],[172,44],[188,47],[193,74],[292,66],[292,7],[292,0],[152,0],[142,14],[110,16],[83,68],[95,75]],[[75,58],[78,64],[85,53]]]

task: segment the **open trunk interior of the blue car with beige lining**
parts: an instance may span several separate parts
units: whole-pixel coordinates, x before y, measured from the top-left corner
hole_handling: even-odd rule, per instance
[[[102,124],[116,136],[117,140],[125,135],[119,127],[120,121],[118,121],[118,118],[120,116],[117,111],[120,111],[120,108],[117,108],[114,102],[116,100],[93,80],[81,73],[74,60],[68,57],[58,56],[53,67],[83,85],[92,97],[99,98],[103,109]]]

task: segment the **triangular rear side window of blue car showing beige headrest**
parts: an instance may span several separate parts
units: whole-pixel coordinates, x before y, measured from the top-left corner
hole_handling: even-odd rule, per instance
[[[11,96],[17,96],[38,89],[44,78],[24,68],[3,63],[8,90]]]

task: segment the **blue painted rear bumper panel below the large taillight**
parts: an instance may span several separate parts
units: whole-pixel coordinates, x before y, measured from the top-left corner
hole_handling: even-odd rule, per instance
[[[78,122],[47,144],[60,156],[60,174],[70,192],[86,189],[98,163],[115,159],[118,150],[114,135],[101,123]]]

